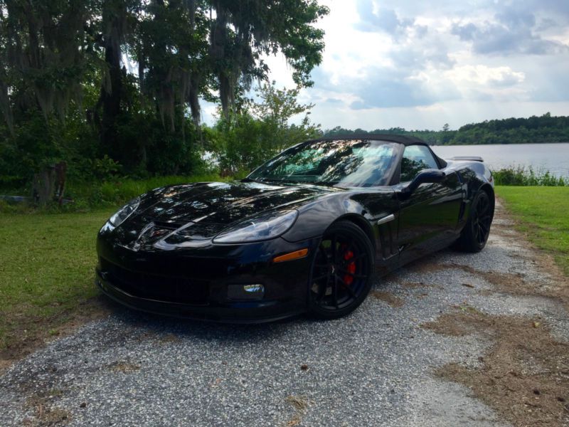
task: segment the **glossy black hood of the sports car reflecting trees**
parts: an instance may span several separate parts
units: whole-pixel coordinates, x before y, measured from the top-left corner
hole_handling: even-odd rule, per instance
[[[209,182],[156,189],[144,194],[137,213],[117,237],[124,246],[167,248],[209,241],[240,221],[274,209],[295,209],[317,197],[344,191],[314,185]]]

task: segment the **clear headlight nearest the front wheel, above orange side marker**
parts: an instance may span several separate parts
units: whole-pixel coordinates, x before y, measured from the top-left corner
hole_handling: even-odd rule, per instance
[[[288,231],[297,216],[298,212],[293,210],[258,215],[222,231],[213,238],[213,243],[244,243],[275,238]]]

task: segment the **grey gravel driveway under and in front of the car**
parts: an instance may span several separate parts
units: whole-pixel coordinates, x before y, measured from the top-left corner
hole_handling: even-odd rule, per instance
[[[420,326],[468,306],[537,314],[568,339],[563,307],[496,292],[476,274],[549,280],[509,236],[504,214],[495,227],[482,253],[443,251],[403,268],[341,320],[233,326],[117,309],[6,371],[0,425],[508,425],[472,391],[434,374],[451,362],[477,367],[490,343]]]

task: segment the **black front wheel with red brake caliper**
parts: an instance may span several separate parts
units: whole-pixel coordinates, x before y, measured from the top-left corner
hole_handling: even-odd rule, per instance
[[[373,246],[349,221],[332,224],[321,239],[310,269],[309,315],[337,319],[361,305],[371,289]]]

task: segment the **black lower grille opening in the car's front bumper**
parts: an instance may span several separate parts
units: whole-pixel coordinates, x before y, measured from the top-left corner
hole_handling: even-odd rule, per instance
[[[204,280],[138,273],[100,258],[101,271],[116,288],[134,297],[181,304],[206,305],[208,283]]]

